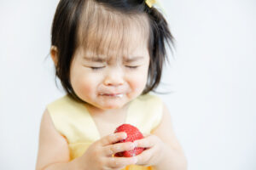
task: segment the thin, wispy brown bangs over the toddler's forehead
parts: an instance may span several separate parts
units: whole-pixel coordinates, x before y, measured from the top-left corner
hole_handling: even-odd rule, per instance
[[[148,49],[148,38],[145,14],[122,14],[88,1],[79,21],[77,48],[87,57],[129,57],[136,48]]]

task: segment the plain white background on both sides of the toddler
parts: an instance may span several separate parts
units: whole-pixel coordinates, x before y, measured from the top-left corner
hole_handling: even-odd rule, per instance
[[[1,170],[34,169],[45,105],[63,95],[48,56],[57,3],[0,1]],[[255,0],[161,5],[176,51],[159,90],[189,169],[255,170]]]

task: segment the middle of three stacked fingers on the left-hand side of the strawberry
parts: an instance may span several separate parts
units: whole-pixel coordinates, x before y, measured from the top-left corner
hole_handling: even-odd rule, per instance
[[[104,152],[106,156],[112,156],[113,154],[121,151],[134,150],[134,148],[135,148],[135,144],[133,144],[132,142],[110,144],[104,148]]]

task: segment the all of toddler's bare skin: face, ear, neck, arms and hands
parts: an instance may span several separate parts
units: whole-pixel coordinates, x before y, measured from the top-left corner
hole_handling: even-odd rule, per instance
[[[112,57],[101,62],[91,60],[90,52],[84,53],[83,48],[78,48],[71,64],[71,84],[79,98],[87,102],[86,107],[101,132],[101,139],[91,144],[83,156],[70,161],[67,139],[56,131],[46,110],[40,126],[37,170],[117,170],[131,164],[153,166],[160,170],[187,168],[166,106],[163,119],[154,133],[134,143],[114,144],[126,136],[125,133],[112,134],[113,128],[117,127],[114,122],[122,122],[129,102],[142,94],[148,78],[148,49],[139,44],[136,47],[129,56]],[[84,56],[90,59],[84,59]],[[56,64],[57,48],[51,48],[51,57]],[[122,97],[109,96],[116,92]],[[106,129],[103,120],[110,122],[112,128],[110,126],[103,131]],[[117,152],[132,150],[136,146],[147,150],[134,157],[112,157]]]

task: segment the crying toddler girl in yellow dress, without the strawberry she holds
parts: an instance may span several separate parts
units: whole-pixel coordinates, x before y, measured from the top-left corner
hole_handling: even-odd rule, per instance
[[[186,169],[161,99],[166,44],[172,34],[147,0],[61,0],[52,25],[51,58],[67,95],[42,117],[37,170]],[[117,143],[129,123],[144,139]],[[143,147],[137,156],[115,153]]]

